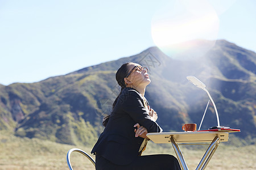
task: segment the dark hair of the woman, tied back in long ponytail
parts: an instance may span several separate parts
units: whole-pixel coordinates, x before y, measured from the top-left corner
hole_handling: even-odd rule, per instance
[[[121,95],[122,93],[122,90],[126,87],[126,84],[125,84],[125,78],[127,77],[127,75],[129,74],[129,65],[130,63],[132,62],[127,62],[127,63],[124,63],[118,70],[117,70],[117,73],[115,74],[115,79],[117,80],[117,83],[119,84],[119,86],[121,86],[121,91],[119,93],[119,95],[117,96],[117,98],[115,99],[114,103],[113,103],[113,109],[115,107],[115,104],[117,104],[117,100],[118,100],[118,97]],[[111,114],[110,114],[111,115]],[[110,115],[106,116],[103,118],[103,122],[102,122],[102,125],[103,126],[106,126],[108,124],[108,121],[109,121],[109,117]]]

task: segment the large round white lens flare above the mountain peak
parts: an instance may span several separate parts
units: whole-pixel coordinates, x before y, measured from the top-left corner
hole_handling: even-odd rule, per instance
[[[172,1],[155,13],[151,23],[156,46],[177,59],[192,59],[207,53],[215,44],[218,28],[216,11],[203,0]]]

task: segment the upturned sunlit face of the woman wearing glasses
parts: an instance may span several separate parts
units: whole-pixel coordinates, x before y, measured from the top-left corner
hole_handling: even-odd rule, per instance
[[[133,86],[146,87],[148,84],[150,84],[151,80],[147,74],[148,70],[146,67],[142,67],[137,63],[131,63],[129,65],[129,70],[130,74],[127,76],[127,79],[132,83]]]

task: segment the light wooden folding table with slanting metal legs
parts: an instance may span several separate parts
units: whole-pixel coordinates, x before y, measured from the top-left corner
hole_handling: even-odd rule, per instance
[[[177,159],[179,160],[180,167],[188,170],[187,164],[180,151],[179,145],[201,145],[205,142],[209,143],[209,147],[205,152],[203,158],[198,164],[197,169],[205,169],[214,152],[216,151],[220,142],[227,142],[229,138],[228,131],[192,131],[192,132],[164,132],[164,133],[148,133],[147,137],[154,143],[172,143]],[[189,144],[190,143],[190,144]]]

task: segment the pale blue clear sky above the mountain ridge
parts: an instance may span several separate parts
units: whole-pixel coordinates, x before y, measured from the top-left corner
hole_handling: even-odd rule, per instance
[[[255,52],[255,7],[254,0],[0,0],[0,84],[38,82],[197,38]]]

